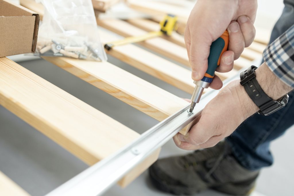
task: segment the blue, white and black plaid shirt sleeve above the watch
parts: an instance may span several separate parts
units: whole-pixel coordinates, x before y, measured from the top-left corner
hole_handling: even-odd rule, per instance
[[[294,25],[264,50],[263,58],[277,77],[294,88]]]

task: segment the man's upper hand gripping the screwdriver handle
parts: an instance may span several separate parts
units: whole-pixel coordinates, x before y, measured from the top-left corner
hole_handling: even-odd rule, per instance
[[[207,70],[211,43],[225,29],[229,32],[228,51],[224,52],[217,72],[233,69],[233,60],[238,59],[244,47],[254,37],[257,9],[256,0],[198,0],[187,21],[185,43],[192,66],[192,79],[201,80]],[[220,89],[223,83],[214,77],[210,87]]]

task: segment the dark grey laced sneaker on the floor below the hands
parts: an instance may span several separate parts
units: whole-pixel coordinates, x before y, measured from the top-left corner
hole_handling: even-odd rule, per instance
[[[174,195],[192,195],[206,189],[249,195],[258,173],[242,167],[226,142],[186,156],[157,160],[149,168],[153,185]]]

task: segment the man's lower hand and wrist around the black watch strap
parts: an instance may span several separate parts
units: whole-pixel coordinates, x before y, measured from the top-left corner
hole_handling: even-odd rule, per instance
[[[292,90],[276,77],[264,63],[256,69],[256,80],[263,91],[276,100]],[[240,80],[224,87],[203,109],[187,135],[178,133],[173,139],[185,150],[213,147],[229,136],[245,119],[259,109],[250,99]]]

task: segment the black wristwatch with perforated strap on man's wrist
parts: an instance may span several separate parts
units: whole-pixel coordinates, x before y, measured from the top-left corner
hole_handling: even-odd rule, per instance
[[[247,70],[240,73],[240,84],[245,88],[245,91],[255,105],[260,109],[258,114],[268,116],[284,107],[288,103],[289,96],[285,94],[278,100],[273,100],[268,97],[255,78],[255,69],[257,69],[257,67],[250,66]]]

